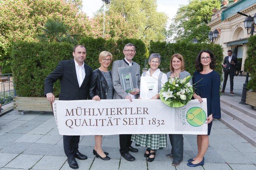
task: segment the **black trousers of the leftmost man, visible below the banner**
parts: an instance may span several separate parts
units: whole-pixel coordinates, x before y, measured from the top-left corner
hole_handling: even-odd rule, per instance
[[[64,152],[68,158],[74,158],[75,153],[78,152],[79,141],[80,136],[63,135]]]

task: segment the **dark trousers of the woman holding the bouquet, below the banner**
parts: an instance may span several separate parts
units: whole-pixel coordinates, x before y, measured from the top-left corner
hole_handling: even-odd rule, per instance
[[[174,162],[181,162],[183,159],[183,135],[182,134],[169,134],[170,142],[172,145],[171,154]]]

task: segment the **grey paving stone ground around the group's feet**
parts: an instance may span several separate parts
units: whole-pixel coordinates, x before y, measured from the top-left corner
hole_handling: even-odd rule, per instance
[[[238,81],[239,79],[239,81]],[[241,80],[240,80],[241,79]],[[234,92],[221,98],[239,100],[244,77],[235,77]],[[236,81],[237,80],[237,81]],[[237,83],[236,83],[237,82]],[[240,82],[240,83],[238,83]],[[227,87],[229,85],[227,84]],[[228,92],[228,88],[226,88]],[[3,106],[6,109],[9,106]],[[248,108],[250,108],[248,106]],[[134,143],[132,144],[134,146]],[[135,147],[135,146],[134,146]],[[210,145],[204,166],[188,167],[187,160],[197,153],[196,135],[184,135],[184,158],[179,166],[172,166],[170,141],[167,147],[156,152],[153,162],[144,158],[144,147],[131,153],[136,161],[128,162],[120,156],[118,135],[103,136],[102,148],[109,152],[110,160],[104,161],[92,154],[94,136],[81,136],[79,150],[88,156],[78,160],[81,170],[256,170],[256,147],[237,135],[218,119],[214,119]],[[51,112],[10,111],[0,116],[0,170],[70,170],[63,150],[62,136],[58,134]]]

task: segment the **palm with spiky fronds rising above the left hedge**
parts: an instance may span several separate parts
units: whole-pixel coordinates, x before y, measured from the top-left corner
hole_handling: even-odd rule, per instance
[[[64,21],[60,20],[47,20],[44,27],[39,27],[43,31],[42,34],[36,36],[40,41],[46,42],[68,42],[73,45],[77,44],[76,39],[73,37],[76,35],[70,35],[68,33],[68,27],[65,25]]]

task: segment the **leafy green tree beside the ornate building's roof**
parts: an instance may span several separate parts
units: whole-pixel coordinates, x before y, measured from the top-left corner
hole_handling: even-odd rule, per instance
[[[188,5],[178,8],[167,33],[173,41],[190,42],[197,38],[199,42],[207,42],[212,9],[220,9],[220,0],[190,0]]]

